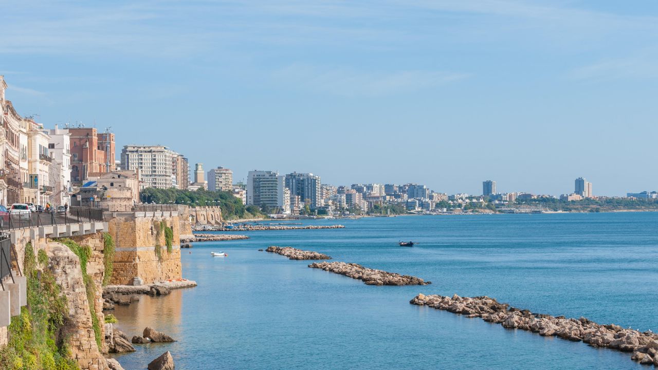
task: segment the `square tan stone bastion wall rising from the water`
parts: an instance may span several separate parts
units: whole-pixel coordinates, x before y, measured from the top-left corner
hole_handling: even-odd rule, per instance
[[[116,246],[110,284],[132,285],[134,278],[151,284],[182,277],[178,211],[114,212],[106,213],[105,219]],[[171,251],[163,226],[172,230]]]

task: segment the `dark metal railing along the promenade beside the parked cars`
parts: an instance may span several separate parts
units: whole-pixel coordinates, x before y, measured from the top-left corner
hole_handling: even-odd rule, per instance
[[[41,226],[70,225],[78,223],[103,222],[103,209],[91,207],[70,207],[66,211],[52,209],[48,212],[26,212],[0,215],[0,231]]]

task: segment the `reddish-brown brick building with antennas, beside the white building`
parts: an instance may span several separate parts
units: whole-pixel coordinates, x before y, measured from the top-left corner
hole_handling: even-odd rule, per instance
[[[66,125],[64,130],[70,134],[72,182],[87,180],[89,172],[114,170],[114,134],[109,130],[98,132],[82,124],[77,127]]]

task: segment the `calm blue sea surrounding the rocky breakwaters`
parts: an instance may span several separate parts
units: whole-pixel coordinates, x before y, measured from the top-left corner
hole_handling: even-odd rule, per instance
[[[176,369],[642,368],[630,354],[409,304],[419,292],[486,295],[538,313],[658,330],[658,213],[340,223],[344,229],[245,232],[251,239],[183,250],[184,276],[197,288],[143,296],[115,312],[128,336],[148,325],[179,341],[138,345],[118,361],[146,369],[170,350]],[[418,244],[401,248],[399,240]],[[367,286],[257,251],[270,245],[320,251],[432,285]]]

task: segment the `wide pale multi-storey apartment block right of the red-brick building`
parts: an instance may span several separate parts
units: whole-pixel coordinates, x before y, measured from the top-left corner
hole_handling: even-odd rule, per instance
[[[164,145],[124,145],[121,151],[121,169],[138,173],[145,188],[168,189],[178,185],[184,166],[178,166],[179,153]],[[176,163],[176,167],[174,167]]]

